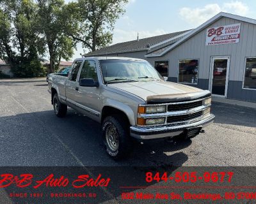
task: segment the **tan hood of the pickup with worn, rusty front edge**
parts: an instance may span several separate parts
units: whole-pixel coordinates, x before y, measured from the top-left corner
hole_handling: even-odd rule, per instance
[[[177,84],[173,82],[164,81],[148,81],[148,82],[125,82],[109,84],[109,87],[134,94],[145,101],[151,96],[170,96],[171,94],[189,94],[193,92],[201,92],[201,89],[190,87],[188,85]]]

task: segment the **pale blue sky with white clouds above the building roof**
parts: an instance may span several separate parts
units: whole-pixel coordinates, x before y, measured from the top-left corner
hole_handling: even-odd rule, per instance
[[[68,0],[66,0],[68,2]],[[193,29],[220,11],[256,19],[256,1],[129,0],[126,12],[117,20],[113,44],[159,34]],[[83,54],[81,45],[73,59]]]

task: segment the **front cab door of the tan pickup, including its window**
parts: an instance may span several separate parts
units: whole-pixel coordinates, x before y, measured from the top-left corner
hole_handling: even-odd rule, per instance
[[[86,60],[83,63],[79,80],[82,78],[92,78],[95,82],[98,82],[97,69],[95,61]],[[79,81],[78,80],[78,81]],[[80,106],[86,115],[92,119],[99,120],[99,107],[100,107],[100,89],[99,87],[82,87],[79,86],[76,97],[77,105]]]

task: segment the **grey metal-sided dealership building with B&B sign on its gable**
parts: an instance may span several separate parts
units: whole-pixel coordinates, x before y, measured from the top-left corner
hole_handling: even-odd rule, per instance
[[[256,102],[256,20],[218,13],[196,29],[117,43],[84,56],[145,59],[170,82]]]

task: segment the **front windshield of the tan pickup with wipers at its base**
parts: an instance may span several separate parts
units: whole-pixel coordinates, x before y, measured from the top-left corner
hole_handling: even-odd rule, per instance
[[[163,77],[147,61],[100,60],[100,68],[104,82],[108,83],[163,80]]]

